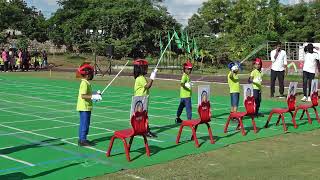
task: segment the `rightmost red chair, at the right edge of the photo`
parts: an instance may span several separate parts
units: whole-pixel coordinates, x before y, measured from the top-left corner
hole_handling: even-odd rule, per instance
[[[313,108],[313,110],[314,110],[314,112],[315,112],[315,114],[316,114],[317,120],[318,120],[318,122],[320,123],[318,111],[317,111],[317,108],[316,108],[316,107],[318,106],[318,99],[319,99],[319,98],[318,98],[318,92],[312,93],[312,95],[311,95],[311,102],[312,102],[312,104],[300,104],[300,105],[296,108],[296,110],[295,110],[295,112],[294,112],[294,117],[296,117],[297,112],[301,109],[301,110],[303,110],[303,111],[302,111],[302,114],[301,114],[301,116],[300,116],[300,120],[303,118],[304,114],[306,113],[307,116],[308,116],[308,122],[309,122],[309,124],[312,124],[312,120],[311,120],[311,118],[310,118],[310,114],[309,114],[308,109]]]

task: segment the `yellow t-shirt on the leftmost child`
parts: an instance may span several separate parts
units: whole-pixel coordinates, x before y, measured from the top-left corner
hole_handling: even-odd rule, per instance
[[[91,84],[86,79],[81,79],[77,111],[91,111],[92,110],[92,100],[82,99],[82,94],[92,94]]]

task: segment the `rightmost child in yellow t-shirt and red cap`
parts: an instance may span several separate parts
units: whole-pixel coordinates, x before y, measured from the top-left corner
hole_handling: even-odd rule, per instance
[[[253,96],[256,103],[256,116],[264,116],[263,114],[259,113],[259,108],[261,104],[261,88],[262,88],[262,60],[256,58],[253,62],[254,70],[251,72],[249,77],[249,83],[253,85]]]

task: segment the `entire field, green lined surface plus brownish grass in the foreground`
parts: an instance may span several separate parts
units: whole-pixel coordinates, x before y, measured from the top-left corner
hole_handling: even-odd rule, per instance
[[[110,78],[97,78],[93,88],[103,89]],[[1,73],[0,84],[0,179],[318,179],[320,176],[317,166],[320,125],[316,121],[311,125],[306,119],[297,121],[299,127],[294,129],[286,116],[290,133],[284,135],[282,126],[274,125],[276,117],[270,128],[260,129],[257,134],[248,119],[244,121],[246,136],[234,131],[235,124],[224,134],[229,112],[225,85],[210,84],[214,116],[211,125],[216,144],[210,144],[207,130],[199,127],[201,147],[195,148],[194,142],[188,141],[191,132],[187,128],[181,143],[175,144],[179,83],[157,80],[151,92],[149,122],[159,138],[149,139],[150,158],[145,155],[143,141],[135,139],[133,161],[128,163],[120,141],[115,141],[110,158],[105,157],[105,151],[115,130],[130,127],[132,77],[117,79],[104,100],[95,104],[89,133],[89,139],[96,143],[92,148],[77,146],[79,115],[75,106],[79,81],[74,74],[54,73],[49,78],[48,72]],[[195,110],[196,93],[192,101]],[[262,112],[268,113],[273,107],[285,107],[285,103],[264,98],[262,107]],[[311,116],[314,118],[313,113]],[[263,127],[266,118],[256,119],[257,126]]]

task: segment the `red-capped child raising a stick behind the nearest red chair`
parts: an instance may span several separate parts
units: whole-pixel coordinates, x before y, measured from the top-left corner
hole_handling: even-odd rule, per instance
[[[148,82],[145,75],[148,73],[148,61],[145,59],[137,59],[133,62],[133,75],[135,78],[134,83],[134,96],[149,96],[149,89],[152,86],[154,79],[156,78],[157,69],[154,69],[150,75],[150,81]],[[150,131],[148,126],[148,137],[157,137],[156,134]]]

